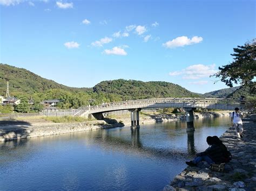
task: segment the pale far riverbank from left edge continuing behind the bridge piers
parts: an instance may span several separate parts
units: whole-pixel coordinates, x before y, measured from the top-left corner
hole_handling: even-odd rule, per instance
[[[194,118],[205,117],[221,117],[229,116],[229,111],[216,111],[216,112],[201,112],[194,113]],[[58,135],[62,133],[71,133],[78,131],[89,131],[106,128],[116,128],[124,125],[131,125],[130,115],[116,115],[109,116],[113,119],[105,121],[86,121],[86,122],[73,122],[73,123],[53,123],[46,121],[41,116],[36,117],[19,117],[17,119],[5,119],[0,121],[0,142],[7,140],[41,137]],[[140,124],[156,123],[156,122],[171,122],[185,119],[185,114],[163,114],[158,112],[146,112],[140,116]],[[53,117],[54,118],[54,117]],[[61,121],[60,117],[56,117],[57,121]],[[52,119],[53,121],[56,121]],[[118,123],[120,122],[120,123]]]

